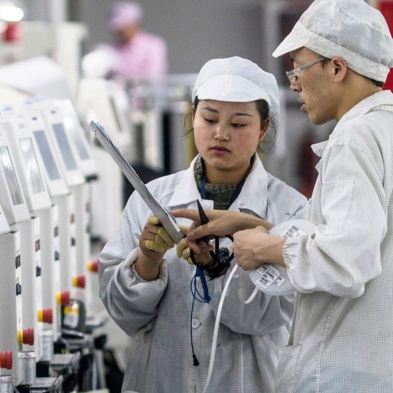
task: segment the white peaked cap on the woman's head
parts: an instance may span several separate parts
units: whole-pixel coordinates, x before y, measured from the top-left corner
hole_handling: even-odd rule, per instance
[[[230,102],[262,99],[269,104],[270,117],[277,124],[280,103],[276,78],[242,57],[209,60],[198,74],[192,102],[195,97]]]

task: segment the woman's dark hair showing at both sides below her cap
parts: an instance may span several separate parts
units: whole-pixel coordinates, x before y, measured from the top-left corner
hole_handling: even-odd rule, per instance
[[[185,130],[185,135],[187,136],[189,133],[193,132],[193,127],[192,127],[192,121],[191,121],[191,116],[192,116],[192,110],[196,111],[197,106],[199,104],[199,98],[195,97],[194,102],[192,103],[191,111],[189,114],[186,115],[186,118],[184,120],[184,130]],[[260,127],[264,126],[264,123],[267,119],[270,120],[270,125],[267,131],[267,135],[264,138],[264,140],[258,145],[257,150],[258,151],[266,151],[272,145],[274,144],[274,141],[276,139],[276,124],[274,123],[274,120],[270,116],[270,108],[269,104],[265,100],[256,100],[254,101],[256,104],[256,109],[259,113],[260,116]],[[187,126],[188,124],[188,126]],[[268,146],[267,149],[265,147]]]

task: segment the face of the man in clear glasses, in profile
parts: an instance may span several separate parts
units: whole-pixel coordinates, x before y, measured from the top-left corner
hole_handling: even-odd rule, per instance
[[[318,54],[305,47],[291,52],[294,68],[311,63]],[[297,73],[296,82],[291,83],[291,90],[298,92],[300,110],[308,113],[314,124],[323,124],[334,119],[336,114],[335,85],[331,78],[331,67],[322,62],[316,62],[310,68]]]

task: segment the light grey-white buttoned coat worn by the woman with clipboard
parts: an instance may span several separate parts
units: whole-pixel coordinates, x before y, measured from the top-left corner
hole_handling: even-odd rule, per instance
[[[148,184],[168,209],[197,208],[201,199],[190,168]],[[213,201],[202,201],[212,208]],[[244,211],[279,223],[302,217],[307,200],[293,188],[267,173],[255,156],[242,192],[230,209]],[[195,353],[200,365],[192,365],[190,346],[190,282],[195,267],[165,254],[157,280],[146,282],[133,268],[138,258],[139,236],[151,214],[134,192],[118,231],[99,256],[100,297],[120,328],[131,337],[122,390],[139,393],[201,393],[207,376],[216,311],[229,270],[208,280],[209,304],[195,302],[192,320]],[[187,220],[179,224],[189,225]],[[225,246],[223,240],[222,246]],[[230,242],[227,244],[230,247]],[[221,325],[209,393],[261,393],[274,391],[278,348],[288,342],[287,325],[294,296],[265,296],[254,290],[248,274],[238,269],[232,279]]]

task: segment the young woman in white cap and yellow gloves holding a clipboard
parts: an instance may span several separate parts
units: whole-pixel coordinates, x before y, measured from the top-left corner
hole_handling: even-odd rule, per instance
[[[204,208],[229,208],[273,223],[302,216],[307,200],[267,173],[255,153],[277,124],[274,76],[240,57],[210,60],[198,76],[192,100],[199,155],[187,170],[148,184],[158,201],[167,209],[179,209],[195,208],[201,200]],[[134,192],[120,228],[99,256],[100,297],[116,323],[132,337],[122,390],[201,392],[215,314],[231,267],[205,271],[211,301],[195,302],[190,320],[195,266],[181,257],[188,259],[189,249],[183,241],[178,249],[173,247],[164,228],[150,215]],[[179,224],[188,226],[190,221],[180,219]],[[223,240],[220,247],[230,248],[230,244]],[[204,252],[195,258],[208,266]],[[244,304],[254,288],[243,270],[230,284],[210,393],[274,391],[277,351],[288,341],[286,325],[293,297],[259,292],[252,303]],[[190,330],[199,366],[193,365]]]

